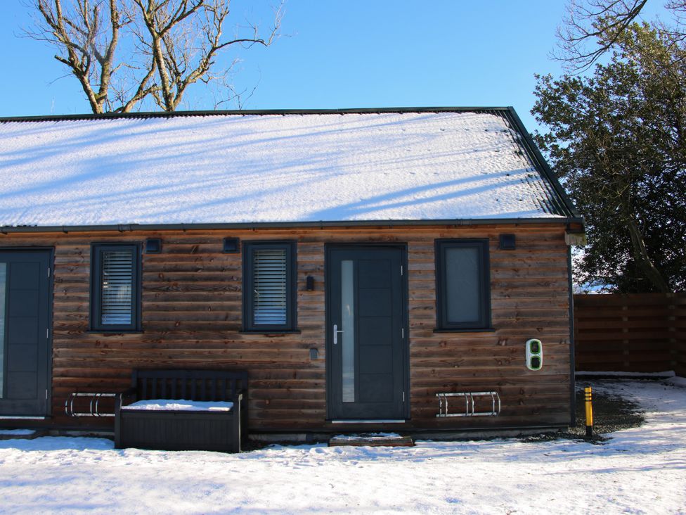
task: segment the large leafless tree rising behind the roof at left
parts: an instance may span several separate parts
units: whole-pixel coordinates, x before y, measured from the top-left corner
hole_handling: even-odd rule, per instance
[[[128,113],[145,98],[173,111],[196,82],[236,94],[228,82],[236,61],[221,67],[219,53],[229,47],[270,46],[283,15],[282,2],[266,37],[248,23],[227,38],[230,0],[30,2],[36,17],[25,35],[57,49],[55,58],[79,80],[93,113]]]

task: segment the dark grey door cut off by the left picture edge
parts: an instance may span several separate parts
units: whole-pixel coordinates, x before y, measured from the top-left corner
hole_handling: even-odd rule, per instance
[[[0,251],[0,416],[48,414],[48,251]]]

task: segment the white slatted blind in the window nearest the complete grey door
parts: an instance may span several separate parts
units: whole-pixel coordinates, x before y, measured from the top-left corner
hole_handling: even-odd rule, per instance
[[[283,325],[286,317],[286,262],[284,249],[253,253],[253,317],[256,326]]]

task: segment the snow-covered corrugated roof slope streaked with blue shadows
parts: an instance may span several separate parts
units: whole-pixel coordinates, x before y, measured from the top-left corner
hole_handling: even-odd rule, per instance
[[[0,226],[559,218],[495,110],[4,120]]]

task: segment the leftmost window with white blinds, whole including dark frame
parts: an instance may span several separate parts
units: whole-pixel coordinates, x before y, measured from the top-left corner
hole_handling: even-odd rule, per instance
[[[136,245],[93,246],[91,329],[139,329],[140,249]]]

